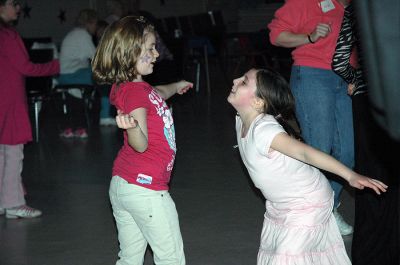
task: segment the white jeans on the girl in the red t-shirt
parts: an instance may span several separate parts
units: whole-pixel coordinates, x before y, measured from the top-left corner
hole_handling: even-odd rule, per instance
[[[154,191],[114,176],[110,200],[118,229],[117,265],[142,265],[147,243],[157,265],[184,265],[178,213],[168,191]]]

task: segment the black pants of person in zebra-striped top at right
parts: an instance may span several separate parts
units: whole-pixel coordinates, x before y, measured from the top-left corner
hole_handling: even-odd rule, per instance
[[[356,171],[389,188],[382,195],[356,190],[352,262],[399,265],[400,143],[381,129],[369,109],[367,94],[353,97]]]

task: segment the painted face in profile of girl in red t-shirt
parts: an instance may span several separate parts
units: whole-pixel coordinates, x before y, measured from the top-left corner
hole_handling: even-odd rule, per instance
[[[149,75],[153,72],[153,66],[160,54],[156,50],[156,37],[153,33],[147,33],[146,40],[142,46],[142,53],[136,63],[138,79],[143,75]]]

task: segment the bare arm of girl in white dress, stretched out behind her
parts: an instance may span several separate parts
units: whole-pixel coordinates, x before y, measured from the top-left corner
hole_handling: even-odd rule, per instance
[[[332,172],[347,180],[352,187],[357,189],[368,187],[380,194],[381,191],[385,192],[388,187],[379,180],[352,171],[332,156],[306,145],[286,133],[276,135],[272,140],[271,148],[306,164]]]

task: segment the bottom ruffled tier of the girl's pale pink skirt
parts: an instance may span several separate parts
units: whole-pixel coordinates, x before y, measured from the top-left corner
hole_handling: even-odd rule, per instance
[[[350,265],[336,221],[314,227],[280,225],[265,218],[257,265]]]

